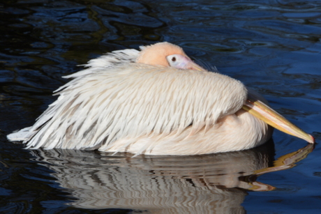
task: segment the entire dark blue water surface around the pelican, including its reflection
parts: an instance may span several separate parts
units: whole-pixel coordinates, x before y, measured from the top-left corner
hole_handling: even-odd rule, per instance
[[[1,1],[0,213],[321,213],[321,149],[274,132],[192,157],[27,151],[52,91],[105,52],[184,47],[321,140],[321,1]],[[284,170],[281,170],[284,169]]]

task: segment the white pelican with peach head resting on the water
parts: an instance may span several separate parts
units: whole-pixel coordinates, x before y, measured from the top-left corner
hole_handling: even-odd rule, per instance
[[[273,128],[314,139],[236,79],[194,63],[181,47],[156,43],[111,52],[66,76],[29,127],[8,135],[27,148],[135,155],[200,155],[253,148]]]

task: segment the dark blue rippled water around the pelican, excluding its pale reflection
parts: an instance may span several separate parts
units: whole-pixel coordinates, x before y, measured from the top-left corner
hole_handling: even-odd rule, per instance
[[[32,125],[56,99],[52,91],[67,81],[61,76],[116,49],[180,45],[321,140],[321,1],[21,0],[1,1],[0,14],[0,213],[136,212],[68,204],[77,199],[54,176],[55,162],[5,137]],[[273,160],[307,144],[278,131],[273,139]],[[276,189],[244,191],[240,206],[246,213],[321,213],[320,157],[317,144],[294,167],[259,176]]]

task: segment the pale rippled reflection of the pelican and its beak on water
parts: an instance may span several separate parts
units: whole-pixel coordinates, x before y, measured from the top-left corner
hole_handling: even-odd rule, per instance
[[[246,190],[274,189],[255,181],[257,175],[292,167],[313,147],[308,144],[274,162],[273,146],[196,156],[128,158],[132,155],[64,149],[39,149],[33,155],[54,171],[52,176],[75,198],[70,205],[79,208],[245,213]]]

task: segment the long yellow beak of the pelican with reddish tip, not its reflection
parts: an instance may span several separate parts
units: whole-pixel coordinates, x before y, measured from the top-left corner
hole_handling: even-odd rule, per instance
[[[314,137],[290,123],[290,121],[281,116],[281,114],[278,114],[278,112],[274,111],[274,109],[271,109],[260,100],[246,100],[243,109],[282,132],[304,139],[310,144],[315,143]]]

